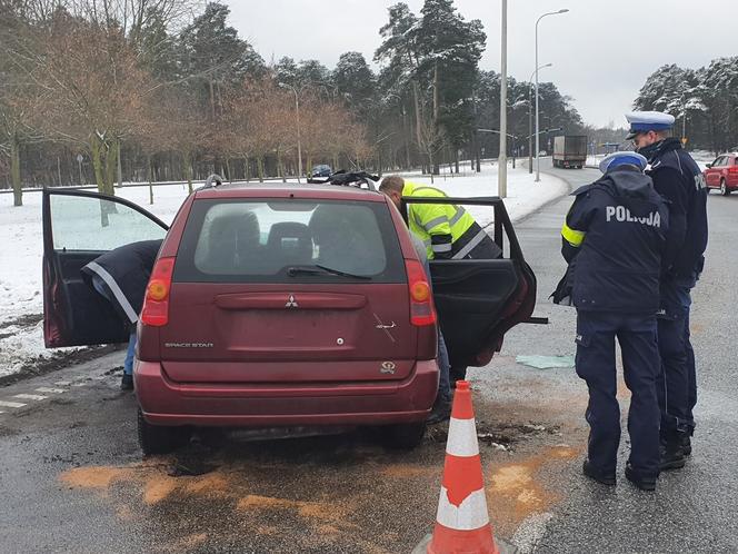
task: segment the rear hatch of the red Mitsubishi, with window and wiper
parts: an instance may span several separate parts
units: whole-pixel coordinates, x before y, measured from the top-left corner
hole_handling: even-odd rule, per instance
[[[406,378],[418,352],[387,204],[197,199],[160,352],[180,383]]]

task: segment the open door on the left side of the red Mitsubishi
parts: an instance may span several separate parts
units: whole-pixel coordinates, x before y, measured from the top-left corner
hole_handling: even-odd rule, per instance
[[[130,243],[162,239],[168,226],[123,198],[44,189],[43,342],[47,348],[126,343],[126,323],[80,269]]]

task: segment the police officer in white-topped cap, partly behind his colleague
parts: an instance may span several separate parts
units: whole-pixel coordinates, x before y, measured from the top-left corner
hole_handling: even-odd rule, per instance
[[[705,265],[707,188],[695,160],[671,137],[674,117],[657,111],[626,116],[628,139],[644,155],[656,190],[669,200],[670,251],[664,261],[659,311],[662,373],[657,389],[661,408],[661,469],[684,467],[691,454],[697,403],[695,354],[689,340],[691,289]]]

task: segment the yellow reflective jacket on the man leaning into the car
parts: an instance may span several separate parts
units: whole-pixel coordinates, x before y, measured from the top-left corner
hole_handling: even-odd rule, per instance
[[[426,185],[405,182],[405,197],[446,198],[442,190]],[[426,245],[428,259],[456,258],[453,243],[463,236],[475,219],[461,206],[451,204],[408,204],[408,225],[410,230]],[[487,235],[481,231],[483,237]],[[483,238],[482,237],[482,238]],[[476,246],[470,245],[471,247]],[[459,258],[466,255],[463,253]]]

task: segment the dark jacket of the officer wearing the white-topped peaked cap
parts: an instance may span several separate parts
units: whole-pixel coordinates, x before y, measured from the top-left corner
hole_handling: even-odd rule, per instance
[[[707,188],[695,160],[669,138],[640,149],[648,158],[656,191],[669,200],[669,251],[664,257],[665,278],[696,278],[702,271],[707,248]]]

